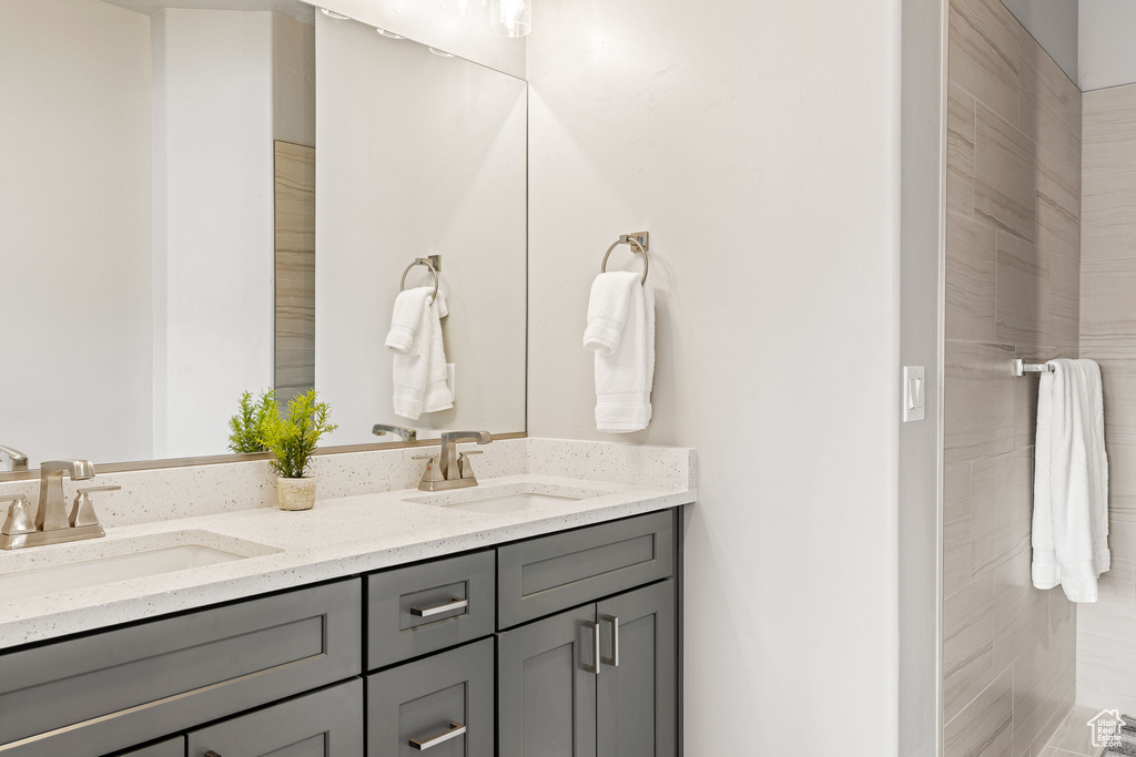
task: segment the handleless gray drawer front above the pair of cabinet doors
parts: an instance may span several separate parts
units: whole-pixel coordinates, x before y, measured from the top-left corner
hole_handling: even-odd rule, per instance
[[[498,626],[526,623],[674,571],[670,510],[510,544],[498,549]]]

